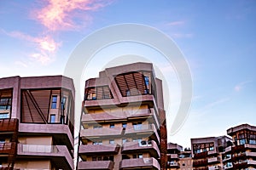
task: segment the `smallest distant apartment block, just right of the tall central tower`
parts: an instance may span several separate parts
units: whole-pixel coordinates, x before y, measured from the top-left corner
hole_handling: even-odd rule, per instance
[[[178,144],[167,144],[167,170],[192,170],[191,150],[184,149]]]

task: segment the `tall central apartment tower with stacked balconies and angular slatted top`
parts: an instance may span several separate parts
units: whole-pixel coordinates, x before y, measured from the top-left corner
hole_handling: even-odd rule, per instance
[[[165,169],[162,93],[148,63],[107,68],[87,80],[78,169]]]

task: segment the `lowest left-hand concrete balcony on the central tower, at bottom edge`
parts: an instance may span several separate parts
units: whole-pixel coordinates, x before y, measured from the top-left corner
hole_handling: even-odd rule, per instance
[[[90,170],[90,169],[113,169],[113,161],[79,161],[78,169]]]

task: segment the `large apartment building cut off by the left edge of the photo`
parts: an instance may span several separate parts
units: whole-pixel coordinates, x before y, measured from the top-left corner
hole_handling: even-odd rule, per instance
[[[0,169],[73,169],[70,78],[0,79]]]

